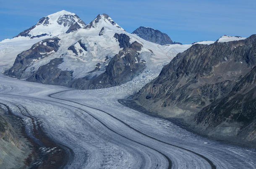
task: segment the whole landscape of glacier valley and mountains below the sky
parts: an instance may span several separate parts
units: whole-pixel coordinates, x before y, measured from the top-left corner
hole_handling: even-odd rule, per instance
[[[256,35],[44,16],[0,42],[0,168],[255,169],[255,75]]]

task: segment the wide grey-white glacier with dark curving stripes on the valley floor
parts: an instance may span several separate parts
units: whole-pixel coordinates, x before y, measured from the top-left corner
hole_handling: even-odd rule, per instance
[[[253,169],[256,165],[255,149],[209,140],[123,106],[118,99],[130,93],[122,86],[79,91],[3,74],[0,81],[1,103],[18,116],[22,115],[14,105],[25,106],[50,138],[73,150],[65,168]]]

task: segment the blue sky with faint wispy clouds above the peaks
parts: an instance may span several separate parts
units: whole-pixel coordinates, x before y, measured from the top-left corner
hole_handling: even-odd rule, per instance
[[[107,13],[129,33],[148,26],[181,43],[256,33],[256,0],[1,0],[0,40],[60,10],[76,13],[85,23]]]

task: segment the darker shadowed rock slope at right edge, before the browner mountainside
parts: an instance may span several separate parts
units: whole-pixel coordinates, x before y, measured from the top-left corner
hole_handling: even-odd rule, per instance
[[[256,143],[256,66],[230,93],[203,108],[194,120],[211,135],[240,136]]]

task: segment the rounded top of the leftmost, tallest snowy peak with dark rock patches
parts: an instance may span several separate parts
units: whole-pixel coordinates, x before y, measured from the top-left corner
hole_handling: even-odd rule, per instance
[[[39,19],[36,25],[19,33],[16,37],[24,36],[39,38],[42,36],[56,36],[60,33],[69,33],[78,28],[84,28],[85,23],[75,13],[61,10]]]

